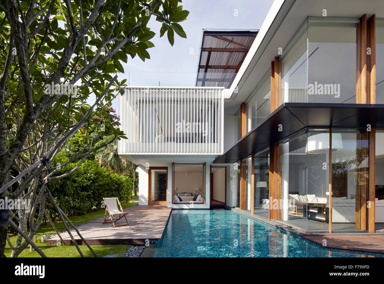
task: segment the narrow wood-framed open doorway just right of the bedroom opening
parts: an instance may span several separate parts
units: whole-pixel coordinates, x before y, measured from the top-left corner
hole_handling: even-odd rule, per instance
[[[211,166],[210,189],[210,204],[227,204],[227,167]]]

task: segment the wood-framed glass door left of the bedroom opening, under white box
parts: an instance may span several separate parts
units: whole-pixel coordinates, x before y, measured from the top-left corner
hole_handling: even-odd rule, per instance
[[[148,204],[167,204],[168,168],[150,167],[148,176]]]

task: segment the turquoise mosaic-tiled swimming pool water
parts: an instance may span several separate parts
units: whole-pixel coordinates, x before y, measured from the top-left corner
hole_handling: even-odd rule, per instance
[[[383,257],[326,248],[232,210],[172,210],[154,257]]]

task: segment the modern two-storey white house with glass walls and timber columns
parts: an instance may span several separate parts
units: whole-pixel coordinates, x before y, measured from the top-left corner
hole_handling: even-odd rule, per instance
[[[119,96],[139,205],[226,205],[305,232],[384,229],[382,0],[275,0],[204,30],[195,86]]]

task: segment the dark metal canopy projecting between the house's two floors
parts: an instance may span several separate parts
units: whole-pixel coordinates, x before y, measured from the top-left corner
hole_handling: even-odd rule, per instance
[[[282,131],[278,131],[279,125]],[[384,128],[383,104],[283,103],[213,163],[235,163],[304,128]]]

